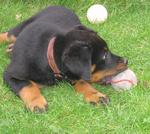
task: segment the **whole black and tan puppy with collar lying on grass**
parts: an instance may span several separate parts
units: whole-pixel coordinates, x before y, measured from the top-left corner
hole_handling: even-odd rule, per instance
[[[14,44],[4,80],[31,111],[47,109],[39,85],[61,79],[71,81],[87,102],[108,103],[109,98],[90,83],[127,68],[126,59],[112,54],[96,32],[60,6],[50,6],[0,34],[2,41]]]

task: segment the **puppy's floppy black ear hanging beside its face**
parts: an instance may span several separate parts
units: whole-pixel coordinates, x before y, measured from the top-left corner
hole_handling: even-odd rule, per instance
[[[91,78],[91,53],[88,46],[72,44],[62,56],[62,61],[68,70],[83,80]]]

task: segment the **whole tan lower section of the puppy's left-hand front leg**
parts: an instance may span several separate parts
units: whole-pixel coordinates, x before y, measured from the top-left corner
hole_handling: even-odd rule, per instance
[[[26,107],[32,112],[43,112],[47,108],[47,102],[41,95],[38,86],[35,83],[31,83],[19,92],[20,98],[24,101]]]

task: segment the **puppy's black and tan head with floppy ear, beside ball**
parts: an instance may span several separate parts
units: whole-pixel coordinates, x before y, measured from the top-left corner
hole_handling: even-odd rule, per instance
[[[106,42],[84,26],[68,32],[65,45],[62,61],[78,79],[98,82],[127,68],[125,58],[111,53]]]

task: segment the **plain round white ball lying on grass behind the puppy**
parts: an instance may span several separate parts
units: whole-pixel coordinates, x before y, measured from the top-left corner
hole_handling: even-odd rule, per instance
[[[100,4],[91,6],[87,11],[87,18],[93,24],[103,23],[107,17],[106,8]]]

